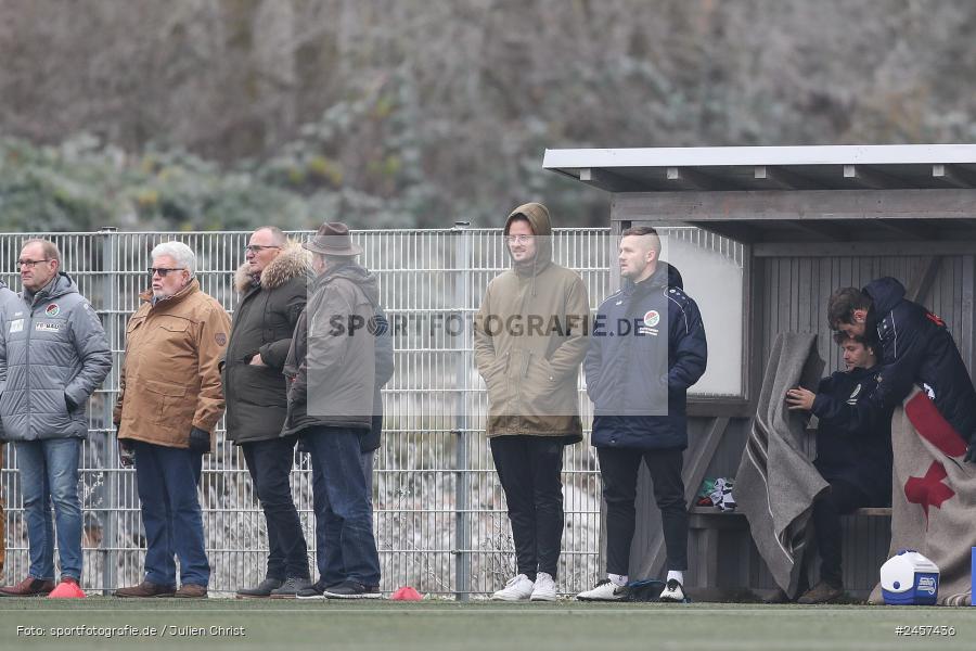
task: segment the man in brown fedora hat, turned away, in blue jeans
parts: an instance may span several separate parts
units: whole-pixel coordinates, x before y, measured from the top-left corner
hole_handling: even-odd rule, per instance
[[[375,599],[380,557],[360,444],[372,426],[378,285],[356,263],[362,250],[345,224],[323,224],[303,246],[317,277],[285,360],[282,435],[297,434],[311,455],[319,580],[298,598]]]

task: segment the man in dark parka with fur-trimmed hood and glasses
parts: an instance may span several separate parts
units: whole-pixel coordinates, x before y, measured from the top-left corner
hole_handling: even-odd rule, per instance
[[[234,277],[239,293],[223,368],[227,438],[241,446],[268,523],[265,579],[239,598],[294,598],[309,583],[308,550],[288,474],[295,436],[281,436],[287,410],[282,367],[305,308],[307,254],[277,227],[254,231]]]

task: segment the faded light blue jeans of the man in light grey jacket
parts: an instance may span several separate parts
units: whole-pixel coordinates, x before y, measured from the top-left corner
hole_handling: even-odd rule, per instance
[[[81,503],[78,500],[80,438],[18,441],[17,469],[34,578],[54,578],[54,523],[61,575],[81,579]],[[54,503],[54,523],[51,522]]]

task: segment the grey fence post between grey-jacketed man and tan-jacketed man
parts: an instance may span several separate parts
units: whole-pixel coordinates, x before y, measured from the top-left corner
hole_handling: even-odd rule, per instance
[[[119,346],[118,342],[118,315],[120,305],[118,303],[118,229],[114,226],[107,226],[99,229],[102,235],[102,281],[104,282],[102,291],[102,299],[104,305],[105,318],[105,336],[108,339],[108,347],[113,352]],[[115,366],[115,365],[113,365]],[[114,369],[117,378],[118,369]],[[115,382],[113,382],[115,383]],[[118,451],[115,449],[112,441],[112,411],[114,400],[112,393],[103,394],[105,399],[102,400],[102,422],[104,423],[105,435],[105,473],[108,503],[102,510],[102,593],[112,595],[113,588],[118,587],[118,562],[116,557],[118,549]]]

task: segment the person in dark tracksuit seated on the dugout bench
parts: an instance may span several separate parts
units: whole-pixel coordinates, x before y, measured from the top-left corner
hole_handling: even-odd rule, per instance
[[[786,392],[791,410],[807,409],[819,419],[813,465],[830,483],[813,503],[813,526],[821,558],[820,583],[799,603],[824,603],[844,593],[840,573],[840,515],[891,500],[891,411],[871,399],[877,387],[874,346],[843,332],[846,371],[820,381],[817,394]]]

